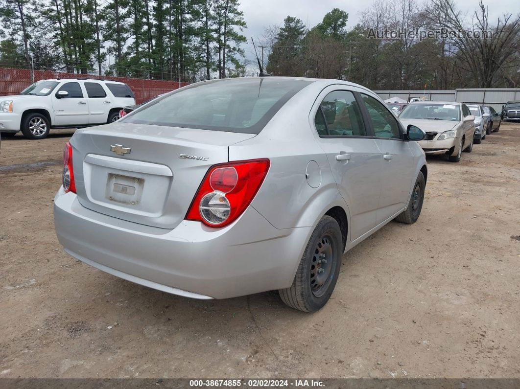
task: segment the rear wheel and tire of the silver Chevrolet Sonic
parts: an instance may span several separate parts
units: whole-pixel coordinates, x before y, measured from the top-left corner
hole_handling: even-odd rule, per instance
[[[336,286],[342,254],[340,226],[334,218],[323,216],[305,247],[291,287],[278,290],[282,301],[303,312],[318,311]]]

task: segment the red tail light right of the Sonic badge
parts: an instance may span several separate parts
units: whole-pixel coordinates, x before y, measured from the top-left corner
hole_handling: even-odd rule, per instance
[[[186,220],[201,221],[210,227],[232,223],[253,200],[269,166],[269,159],[212,166],[191,202]]]

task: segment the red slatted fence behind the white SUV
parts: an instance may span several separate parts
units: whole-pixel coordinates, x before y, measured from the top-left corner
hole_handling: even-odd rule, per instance
[[[50,70],[35,70],[34,81],[49,78],[96,78],[120,81],[128,84],[135,94],[135,100],[140,103],[151,97],[166,93],[179,88],[179,83],[175,81],[162,81],[159,79],[128,78],[128,77],[101,77],[96,75],[73,74],[53,72]],[[31,85],[31,71],[28,69],[0,68],[0,96],[17,95],[23,89]],[[189,83],[180,83],[183,87]]]

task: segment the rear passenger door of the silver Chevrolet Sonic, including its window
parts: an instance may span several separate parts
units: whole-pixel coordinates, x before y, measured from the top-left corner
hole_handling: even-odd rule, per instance
[[[350,239],[375,226],[382,156],[367,130],[353,90],[324,89],[315,108],[318,142],[350,212]],[[314,111],[313,111],[314,112]]]

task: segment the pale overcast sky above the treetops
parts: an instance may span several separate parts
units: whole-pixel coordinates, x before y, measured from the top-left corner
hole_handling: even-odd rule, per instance
[[[243,46],[246,57],[250,60],[255,58],[251,36],[255,39],[255,44],[258,44],[257,40],[262,38],[265,26],[281,24],[288,15],[295,16],[312,27],[318,24],[327,12],[333,8],[340,8],[348,13],[347,29],[350,30],[358,23],[361,12],[372,3],[372,0],[241,0],[240,8],[248,25],[244,30],[244,35],[248,38],[248,44]],[[484,0],[484,4],[489,6],[490,21],[501,16],[505,10],[514,13],[520,11],[518,0]],[[478,0],[457,0],[457,6],[473,14]]]

